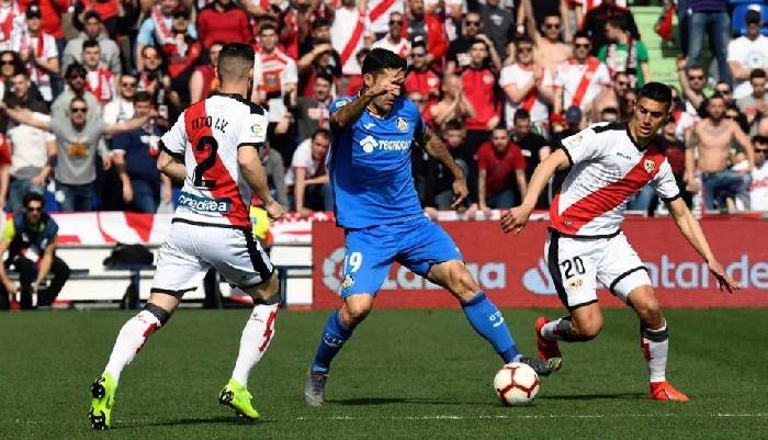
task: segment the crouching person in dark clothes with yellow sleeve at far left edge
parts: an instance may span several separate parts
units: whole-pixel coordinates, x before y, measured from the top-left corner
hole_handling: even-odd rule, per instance
[[[0,309],[9,309],[9,295],[21,293],[22,309],[34,308],[32,295],[37,294],[37,307],[50,306],[69,279],[69,267],[56,257],[58,225],[43,212],[43,195],[24,196],[24,211],[5,222],[0,240],[0,255],[8,251],[8,259],[0,264]],[[19,273],[19,284],[8,277],[8,270]],[[45,278],[53,275],[44,287]]]

